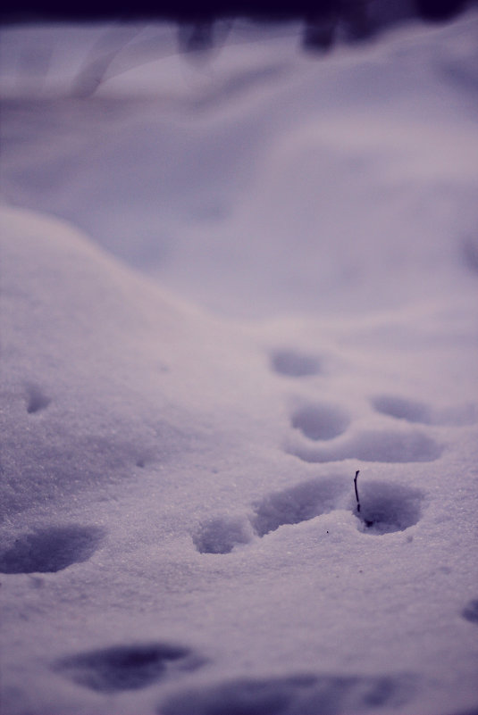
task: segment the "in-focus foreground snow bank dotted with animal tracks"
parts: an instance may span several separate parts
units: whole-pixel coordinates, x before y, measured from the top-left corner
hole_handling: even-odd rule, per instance
[[[214,320],[2,215],[4,712],[474,707],[474,310]]]

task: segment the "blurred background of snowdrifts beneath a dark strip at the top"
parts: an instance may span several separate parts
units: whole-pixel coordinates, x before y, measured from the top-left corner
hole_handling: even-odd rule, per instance
[[[239,318],[476,279],[477,0],[1,13],[2,201]]]

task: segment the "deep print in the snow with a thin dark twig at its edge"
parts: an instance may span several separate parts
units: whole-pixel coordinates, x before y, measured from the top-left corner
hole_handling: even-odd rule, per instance
[[[422,516],[423,493],[418,489],[381,481],[360,485],[360,530],[382,535],[404,531],[414,526]]]

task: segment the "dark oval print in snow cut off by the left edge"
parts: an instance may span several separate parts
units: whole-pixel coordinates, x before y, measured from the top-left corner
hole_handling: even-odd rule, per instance
[[[88,561],[105,536],[99,527],[38,529],[22,534],[13,546],[0,552],[1,573],[55,573],[72,563]]]

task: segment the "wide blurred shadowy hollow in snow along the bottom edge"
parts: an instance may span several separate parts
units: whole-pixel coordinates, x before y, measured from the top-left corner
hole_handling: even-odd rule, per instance
[[[231,680],[222,685],[181,691],[158,715],[343,715],[387,711],[415,694],[413,676],[395,678],[299,675]]]

